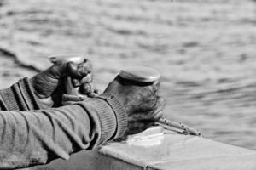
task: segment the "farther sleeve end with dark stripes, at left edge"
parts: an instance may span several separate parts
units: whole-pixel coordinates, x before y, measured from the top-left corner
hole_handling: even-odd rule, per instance
[[[10,88],[0,90],[1,111],[27,111],[40,109],[28,78],[23,78]]]

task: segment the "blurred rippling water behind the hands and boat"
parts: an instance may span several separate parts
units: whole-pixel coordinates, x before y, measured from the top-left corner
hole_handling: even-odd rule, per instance
[[[252,0],[0,0],[0,88],[84,54],[96,87],[129,65],[162,74],[165,115],[256,150]]]

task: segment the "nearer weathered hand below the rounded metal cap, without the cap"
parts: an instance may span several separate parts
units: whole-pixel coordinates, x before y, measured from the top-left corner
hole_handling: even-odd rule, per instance
[[[128,129],[125,135],[139,133],[162,116],[164,100],[158,96],[158,85],[132,85],[119,76],[108,84],[104,93],[113,94],[125,106]]]

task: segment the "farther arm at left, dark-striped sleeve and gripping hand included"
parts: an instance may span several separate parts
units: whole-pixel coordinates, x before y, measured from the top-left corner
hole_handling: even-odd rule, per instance
[[[28,111],[61,106],[62,94],[66,94],[64,77],[72,77],[74,87],[84,89],[90,85],[92,66],[88,59],[77,65],[72,62],[56,63],[34,77],[24,78],[10,88],[0,90],[0,111]],[[93,88],[84,90],[90,94]],[[78,101],[78,99],[76,99]]]

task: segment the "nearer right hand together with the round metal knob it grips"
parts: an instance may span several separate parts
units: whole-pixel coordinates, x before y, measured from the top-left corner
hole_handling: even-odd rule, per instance
[[[128,116],[125,136],[147,129],[162,116],[164,100],[158,95],[160,74],[148,67],[122,69],[104,93],[113,94]]]

